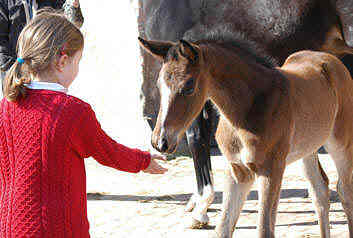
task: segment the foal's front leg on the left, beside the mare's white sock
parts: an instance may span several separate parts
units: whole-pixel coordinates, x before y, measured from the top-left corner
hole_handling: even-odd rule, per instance
[[[255,175],[243,164],[227,163],[220,221],[213,237],[231,238]]]

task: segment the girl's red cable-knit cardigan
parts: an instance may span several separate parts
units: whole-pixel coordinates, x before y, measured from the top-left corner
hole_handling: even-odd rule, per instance
[[[89,237],[83,159],[137,173],[150,154],[107,136],[89,104],[27,92],[0,103],[0,237]]]

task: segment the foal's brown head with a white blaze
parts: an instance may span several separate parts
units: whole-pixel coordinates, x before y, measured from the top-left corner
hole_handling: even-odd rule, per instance
[[[172,153],[207,99],[201,50],[184,40],[139,41],[144,50],[162,63],[157,81],[161,103],[152,145],[160,152]]]

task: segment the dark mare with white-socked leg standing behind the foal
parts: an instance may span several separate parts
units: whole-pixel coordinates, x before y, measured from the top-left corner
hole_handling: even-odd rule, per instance
[[[337,56],[348,53],[347,45],[353,46],[353,1],[144,0],[139,1],[138,30],[148,40],[236,41],[268,64],[280,66],[291,53],[302,49],[323,50]],[[154,128],[160,104],[156,80],[161,63],[144,51],[141,54],[143,113]],[[344,59],[353,65],[352,58]],[[206,103],[203,113],[186,131],[198,189],[186,208],[194,208],[191,226],[208,222],[206,212],[214,196],[210,142],[216,118],[214,108]],[[163,148],[167,146],[162,144]],[[311,167],[326,180],[317,160]]]

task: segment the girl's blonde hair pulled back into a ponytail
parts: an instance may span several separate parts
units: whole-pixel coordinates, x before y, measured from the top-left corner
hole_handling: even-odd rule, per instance
[[[73,56],[83,49],[81,31],[61,12],[44,9],[22,30],[17,42],[18,60],[5,77],[4,96],[17,101],[26,96],[32,76],[51,70],[58,56]]]

